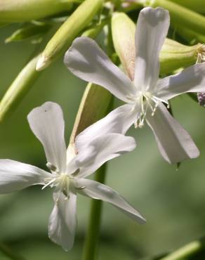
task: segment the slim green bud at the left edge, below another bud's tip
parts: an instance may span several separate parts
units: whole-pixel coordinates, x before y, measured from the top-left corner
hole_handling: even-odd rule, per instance
[[[35,70],[39,56],[33,58],[22,69],[14,79],[11,86],[6,91],[0,102],[0,122],[13,111],[20,100],[26,95],[34,81],[39,77],[39,72]]]

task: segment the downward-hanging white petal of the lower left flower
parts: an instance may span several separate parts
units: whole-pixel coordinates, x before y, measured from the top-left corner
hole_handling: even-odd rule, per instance
[[[77,195],[70,192],[67,199],[63,193],[54,193],[55,202],[48,223],[48,237],[65,251],[72,248],[74,244],[75,230],[77,226]]]

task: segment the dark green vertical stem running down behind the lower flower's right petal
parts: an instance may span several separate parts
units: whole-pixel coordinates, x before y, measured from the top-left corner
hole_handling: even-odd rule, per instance
[[[103,164],[95,174],[95,181],[105,183],[106,164]],[[91,212],[89,216],[88,231],[84,245],[83,260],[94,260],[97,252],[100,235],[100,222],[102,212],[102,200],[91,200]]]

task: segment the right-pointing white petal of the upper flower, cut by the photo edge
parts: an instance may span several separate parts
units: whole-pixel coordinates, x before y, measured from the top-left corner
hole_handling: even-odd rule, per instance
[[[178,74],[159,79],[157,96],[165,100],[186,92],[205,92],[205,63],[187,67]]]

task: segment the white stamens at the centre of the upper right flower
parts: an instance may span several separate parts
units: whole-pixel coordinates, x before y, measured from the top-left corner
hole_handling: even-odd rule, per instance
[[[166,103],[167,108],[169,108],[168,101],[158,98],[148,91],[141,91],[137,96],[128,98],[134,103],[132,111],[135,110],[135,108],[140,108],[138,119],[135,122],[135,128],[143,127],[148,109],[152,111],[153,117],[160,102]]]

